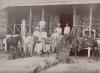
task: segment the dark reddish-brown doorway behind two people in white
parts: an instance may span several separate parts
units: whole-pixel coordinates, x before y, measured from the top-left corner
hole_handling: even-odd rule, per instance
[[[64,28],[66,27],[66,23],[69,24],[69,27],[72,29],[73,26],[73,14],[67,13],[67,14],[60,14],[60,23],[62,28],[62,34],[64,32]]]

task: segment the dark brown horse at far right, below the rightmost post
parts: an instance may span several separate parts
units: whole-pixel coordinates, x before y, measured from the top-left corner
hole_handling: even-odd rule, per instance
[[[98,48],[98,43],[96,39],[93,38],[83,38],[81,39],[81,44],[80,44],[81,48],[91,48],[91,56],[93,58],[97,58],[99,56],[99,48]]]

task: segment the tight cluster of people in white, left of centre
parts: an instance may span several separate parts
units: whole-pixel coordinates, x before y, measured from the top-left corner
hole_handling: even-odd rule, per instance
[[[40,21],[39,25],[33,32],[33,41],[34,41],[33,48],[36,53],[41,54],[41,50],[45,45],[46,39],[47,39],[47,33],[45,32],[45,21]]]

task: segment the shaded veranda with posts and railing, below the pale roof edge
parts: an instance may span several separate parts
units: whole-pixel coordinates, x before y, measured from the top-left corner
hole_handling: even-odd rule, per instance
[[[100,37],[100,6],[99,4],[72,4],[46,6],[11,6],[2,10],[1,22],[7,24],[7,35],[21,34],[22,20],[26,21],[25,33],[32,36],[40,20],[46,21],[45,31],[51,36],[57,23],[64,29],[69,23],[74,33],[95,39]],[[79,28],[79,29],[78,29]],[[6,50],[6,48],[5,48]]]

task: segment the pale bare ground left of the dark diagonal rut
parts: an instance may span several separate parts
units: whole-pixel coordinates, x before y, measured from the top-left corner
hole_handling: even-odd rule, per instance
[[[54,63],[52,57],[30,57],[17,60],[1,60],[0,73],[33,73],[37,67],[45,68],[47,62]]]

